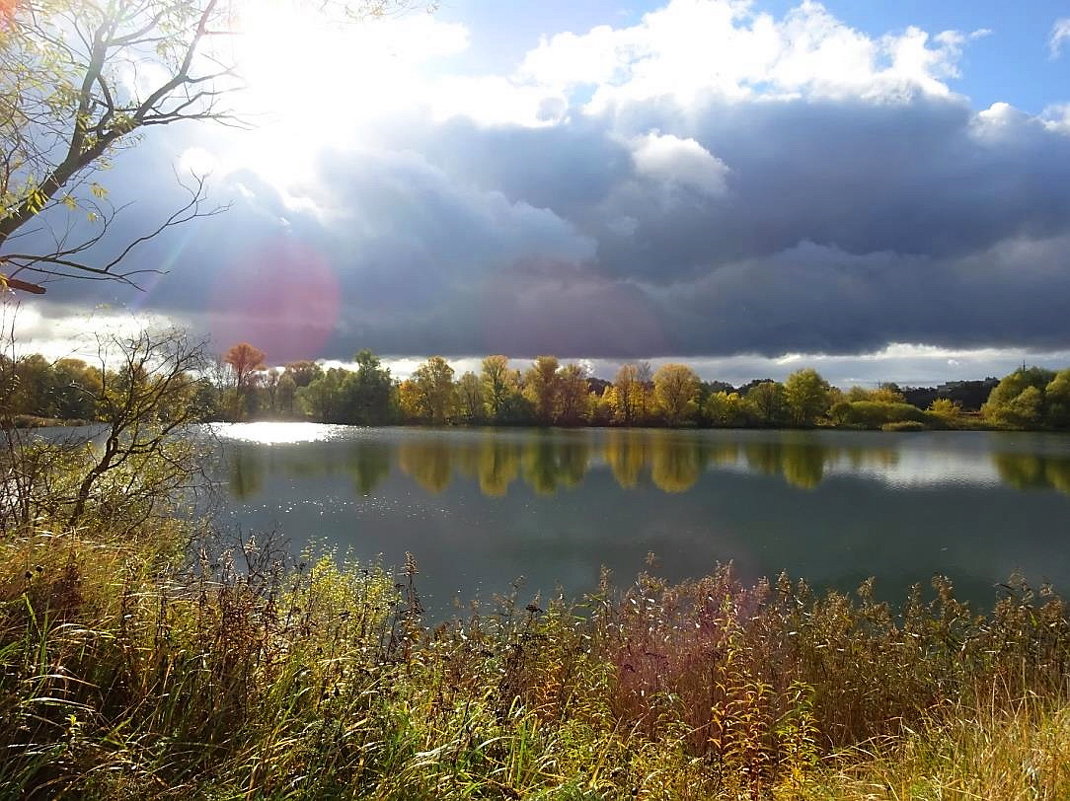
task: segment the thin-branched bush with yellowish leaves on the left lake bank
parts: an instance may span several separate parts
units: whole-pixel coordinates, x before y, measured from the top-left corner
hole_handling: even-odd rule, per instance
[[[167,518],[199,483],[198,446],[171,434],[201,416],[196,398],[203,381],[197,378],[205,361],[202,344],[179,330],[147,329],[102,336],[98,349],[96,384],[80,387],[104,423],[92,432],[92,442],[24,438],[0,398],[4,526],[47,518],[64,528],[102,519],[132,528]]]

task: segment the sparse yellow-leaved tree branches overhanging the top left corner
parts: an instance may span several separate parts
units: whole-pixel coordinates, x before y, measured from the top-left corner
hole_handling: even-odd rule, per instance
[[[95,173],[152,126],[228,118],[236,80],[205,52],[226,16],[218,0],[14,4],[0,42],[0,260],[14,273],[129,280],[138,245],[202,216],[198,183],[159,228],[104,255],[114,210]],[[18,251],[35,230],[55,245]]]

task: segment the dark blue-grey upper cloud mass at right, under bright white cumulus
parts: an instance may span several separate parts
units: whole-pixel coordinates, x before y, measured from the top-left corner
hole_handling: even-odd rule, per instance
[[[714,105],[681,135],[728,165],[728,194],[658,209],[624,187],[607,212],[640,225],[600,256],[615,272],[674,280],[805,241],[952,257],[1067,231],[1070,138],[1036,121],[990,127],[948,99]]]

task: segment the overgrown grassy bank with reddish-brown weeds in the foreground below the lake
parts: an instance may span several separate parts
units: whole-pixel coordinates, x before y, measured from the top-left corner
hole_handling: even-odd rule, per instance
[[[720,568],[432,628],[414,564],[187,536],[3,536],[4,797],[1070,797],[1067,607],[1024,586],[978,615]]]

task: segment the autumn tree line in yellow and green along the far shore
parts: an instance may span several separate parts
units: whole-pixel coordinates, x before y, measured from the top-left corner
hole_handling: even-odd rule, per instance
[[[10,413],[100,418],[101,389],[107,383],[103,363],[52,363],[33,354],[3,357],[0,368],[11,384],[5,391]],[[242,342],[198,379],[190,402],[205,420],[890,430],[1070,427],[1070,370],[1025,366],[999,382],[843,390],[812,368],[796,370],[783,382],[759,379],[734,387],[703,381],[684,364],[654,369],[644,361],[628,363],[606,381],[588,375],[580,364],[548,355],[524,369],[514,367],[507,356],[491,355],[478,372],[460,375],[444,357],[432,356],[399,381],[369,350],[354,356],[353,368],[324,368],[311,360],[269,367],[263,351]],[[978,388],[989,391],[979,407],[954,397],[956,391],[978,397]],[[919,397],[929,401],[924,407],[916,402]]]

